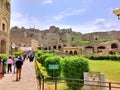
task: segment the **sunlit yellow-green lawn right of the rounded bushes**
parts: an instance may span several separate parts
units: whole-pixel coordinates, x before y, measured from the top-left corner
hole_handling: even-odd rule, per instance
[[[120,82],[120,62],[106,60],[89,60],[90,71],[104,73],[110,81]]]

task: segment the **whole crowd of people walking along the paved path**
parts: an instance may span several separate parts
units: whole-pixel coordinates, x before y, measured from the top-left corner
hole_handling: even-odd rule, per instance
[[[29,62],[33,62],[34,60],[34,53],[30,52],[30,53],[25,53],[23,55],[20,56],[16,56],[16,57],[9,57],[7,59],[7,70],[5,68],[4,65],[4,60],[2,60],[2,58],[0,58],[0,77],[2,77],[4,75],[4,73],[16,73],[16,81],[19,81],[21,79],[21,70],[22,70],[22,65],[23,62],[29,61]],[[3,73],[4,70],[4,73]]]

